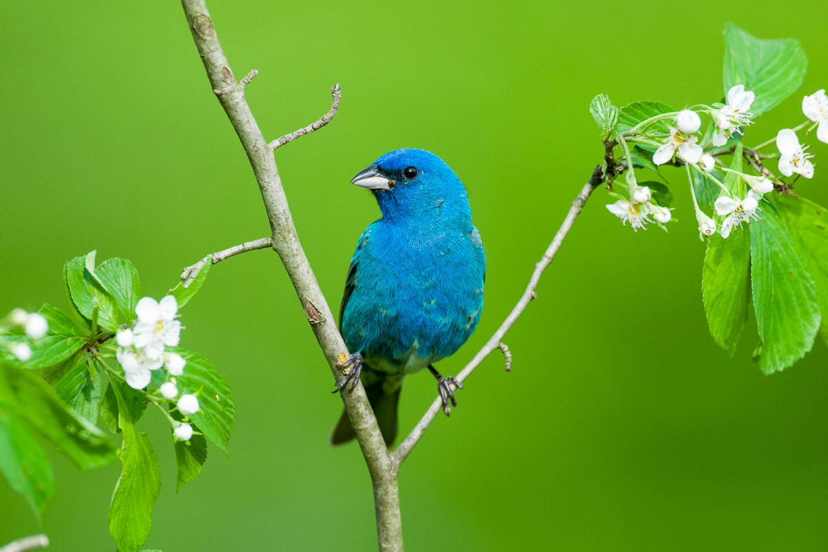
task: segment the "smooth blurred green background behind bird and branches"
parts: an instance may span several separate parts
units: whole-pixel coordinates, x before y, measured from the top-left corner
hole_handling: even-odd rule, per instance
[[[276,153],[296,226],[336,310],[359,233],[378,216],[350,178],[385,151],[435,151],[464,180],[489,260],[474,337],[455,373],[521,294],[600,160],[590,99],[676,107],[723,96],[725,21],[802,40],[800,92],[746,142],[802,120],[828,86],[828,11],[813,2],[253,2],[211,0],[237,78],[268,139],[328,127]],[[161,297],[181,267],[267,235],[238,140],[213,97],[177,2],[2,2],[0,311],[68,307],[60,270],[97,248],[127,257]],[[801,136],[802,137],[802,136]],[[816,142],[811,135],[806,142]],[[828,145],[797,191],[828,204]],[[775,166],[772,163],[772,169]],[[704,245],[686,182],[667,169],[678,222],[633,233],[598,190],[498,354],[460,391],[402,469],[409,550],[826,550],[828,353],[763,376],[755,323],[734,360],[707,333]],[[181,346],[233,386],[225,458],[175,496],[166,423],[142,420],[164,487],[147,548],[371,550],[359,448],[327,444],[341,402],[272,252],[214,266],[185,307]],[[436,396],[407,380],[401,424]],[[54,550],[113,550],[118,464],[77,473],[54,454],[57,492],[38,526],[0,481],[0,543],[45,530]]]

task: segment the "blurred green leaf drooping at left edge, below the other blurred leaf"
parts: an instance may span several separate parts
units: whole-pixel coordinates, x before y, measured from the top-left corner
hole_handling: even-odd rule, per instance
[[[49,458],[12,410],[0,408],[0,473],[26,498],[38,519],[55,494]],[[4,506],[11,507],[11,505]]]

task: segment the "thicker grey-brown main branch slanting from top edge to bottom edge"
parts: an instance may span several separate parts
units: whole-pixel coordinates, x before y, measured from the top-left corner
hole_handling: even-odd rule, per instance
[[[302,309],[305,310],[310,322],[310,328],[313,329],[316,340],[322,352],[325,353],[331,372],[339,382],[344,375],[336,366],[337,355],[348,353],[348,348],[345,347],[342,336],[339,335],[334,315],[331,314],[330,307],[316,281],[316,276],[302,250],[272,149],[267,145],[244,99],[242,84],[233,78],[233,71],[230,70],[227,57],[215,34],[205,1],[181,0],[181,6],[184,7],[187,22],[190,24],[195,46],[204,62],[210,85],[233,124],[238,139],[248,155],[253,174],[256,175],[262,201],[267,211],[267,219],[270,221],[272,247],[282,259],[282,264],[291,278]],[[335,96],[337,93],[338,90],[335,87]],[[334,108],[331,109],[335,111]],[[323,124],[320,124],[321,126]],[[368,472],[371,474],[380,549],[402,550],[402,522],[400,521],[397,478],[392,477],[391,457],[385,447],[383,435],[379,431],[377,419],[373,415],[361,384],[358,384],[354,391],[340,393],[340,396],[351,425],[354,426],[359,447],[362,449],[365,463],[368,464]]]

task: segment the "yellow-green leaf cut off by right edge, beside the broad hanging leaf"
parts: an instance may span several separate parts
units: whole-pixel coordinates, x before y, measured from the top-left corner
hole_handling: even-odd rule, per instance
[[[777,203],[787,215],[788,228],[800,240],[808,271],[816,283],[822,340],[828,345],[828,211],[808,199],[780,194]]]

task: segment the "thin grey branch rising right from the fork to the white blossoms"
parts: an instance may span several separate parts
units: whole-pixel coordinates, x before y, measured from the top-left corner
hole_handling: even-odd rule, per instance
[[[489,341],[483,346],[483,348],[481,348],[479,352],[474,355],[471,362],[466,364],[465,368],[460,371],[460,374],[458,374],[455,378],[458,382],[465,382],[465,379],[469,377],[469,374],[474,372],[474,368],[478,367],[480,362],[483,362],[484,358],[488,357],[489,353],[492,353],[492,351],[500,348],[503,351],[503,354],[507,354],[508,348],[504,350],[503,347],[501,347],[503,343],[501,341],[503,336],[506,335],[509,329],[512,328],[514,323],[517,321],[517,318],[522,314],[523,310],[526,309],[532,299],[537,297],[537,293],[535,291],[535,288],[537,288],[537,282],[541,280],[541,276],[543,271],[546,270],[546,266],[549,266],[552,262],[552,258],[555,257],[555,253],[558,251],[558,248],[561,247],[561,243],[564,241],[564,238],[566,238],[566,233],[568,233],[570,228],[572,228],[572,223],[575,222],[575,218],[578,214],[580,214],[580,210],[584,208],[586,200],[590,198],[592,191],[604,181],[603,175],[604,166],[596,166],[595,170],[592,171],[590,180],[587,181],[584,187],[580,190],[578,197],[576,197],[575,201],[572,202],[572,207],[570,207],[569,213],[566,214],[566,218],[564,218],[561,228],[559,228],[558,232],[555,234],[555,238],[552,238],[552,242],[549,244],[549,247],[546,248],[546,252],[543,254],[543,257],[535,265],[535,271],[532,272],[529,284],[526,287],[526,290],[523,291],[523,295],[520,300],[517,301],[517,305],[514,306],[512,312],[509,313],[503,321],[503,324],[500,324],[498,330],[494,332],[493,336],[489,338]],[[507,354],[507,363],[509,360],[511,360],[511,355]],[[414,427],[412,432],[408,434],[406,439],[403,440],[399,446],[397,446],[397,449],[391,455],[394,473],[399,471],[400,465],[402,465],[402,462],[407,458],[408,454],[411,453],[414,445],[416,445],[417,441],[420,440],[422,435],[425,433],[426,428],[428,428],[428,425],[431,424],[431,420],[434,420],[437,413],[440,412],[442,406],[442,399],[438,396],[435,401],[431,403],[431,406],[426,411],[426,414],[423,415],[419,422],[417,422],[417,425]]]

